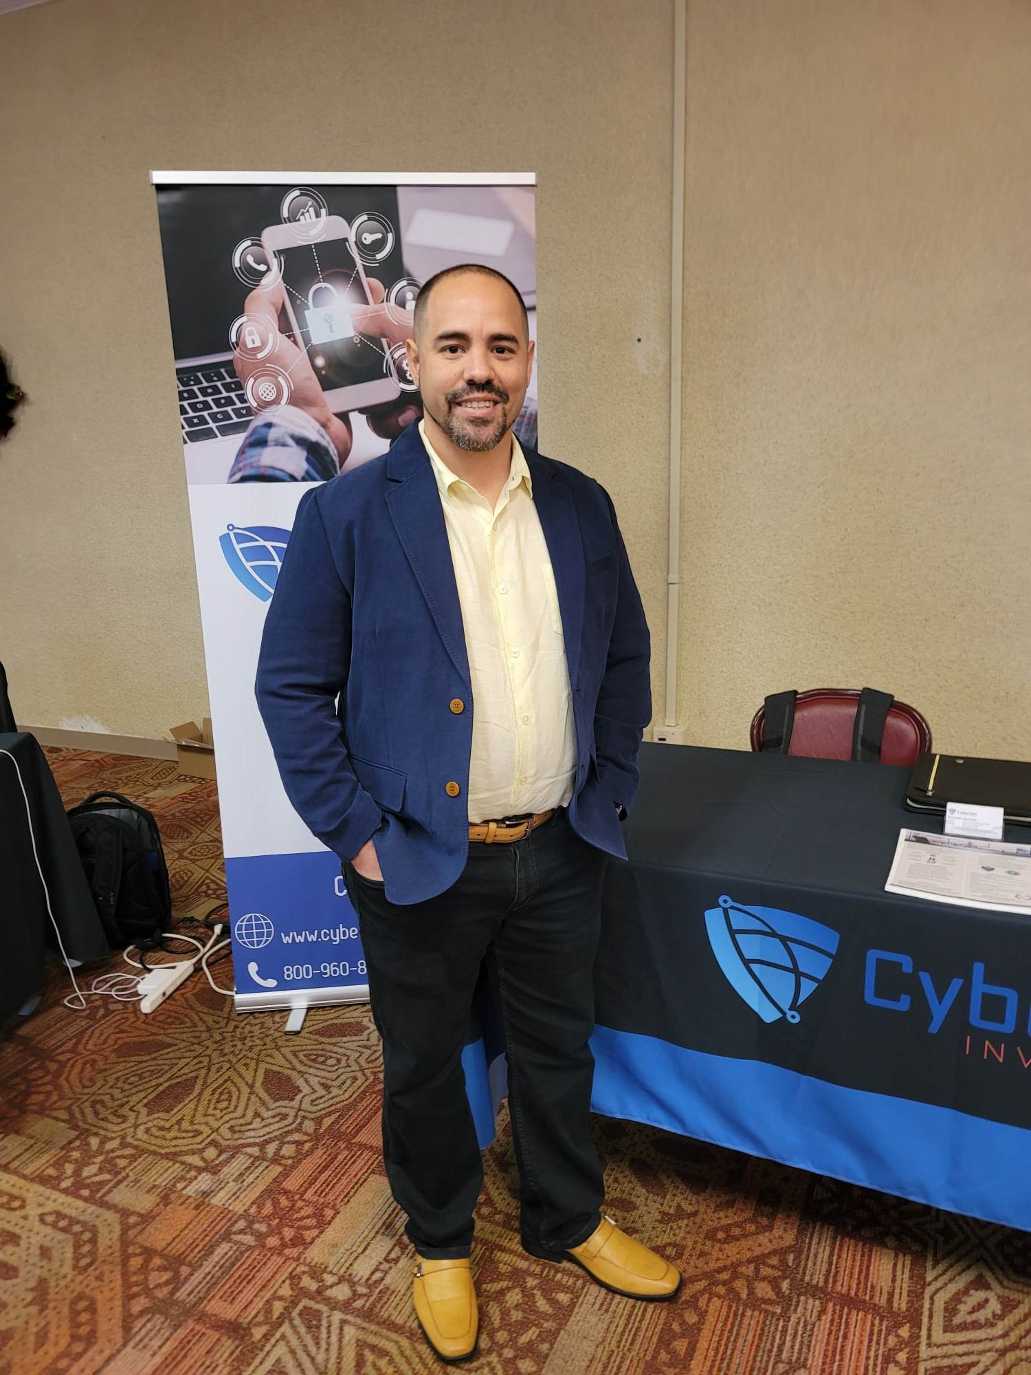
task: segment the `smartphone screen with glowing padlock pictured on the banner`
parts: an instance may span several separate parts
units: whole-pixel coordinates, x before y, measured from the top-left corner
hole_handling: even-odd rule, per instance
[[[324,392],[390,377],[382,338],[356,330],[355,316],[368,305],[351,241],[320,239],[276,248],[283,287],[304,348]]]

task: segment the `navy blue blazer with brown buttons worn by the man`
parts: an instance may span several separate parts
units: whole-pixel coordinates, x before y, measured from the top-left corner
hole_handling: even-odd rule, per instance
[[[652,718],[647,622],[605,488],[524,452],[569,664],[569,821],[625,858],[620,820]],[[373,836],[392,902],[421,902],[458,880],[476,703],[444,512],[417,425],[301,498],[256,694],[286,795],[319,840],[352,859]],[[454,698],[465,711],[451,710]]]

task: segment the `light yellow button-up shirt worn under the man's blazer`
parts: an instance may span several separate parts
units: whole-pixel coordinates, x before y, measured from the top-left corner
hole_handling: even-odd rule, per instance
[[[564,807],[576,736],[551,558],[516,436],[491,505],[419,434],[437,478],[473,685],[469,821]]]

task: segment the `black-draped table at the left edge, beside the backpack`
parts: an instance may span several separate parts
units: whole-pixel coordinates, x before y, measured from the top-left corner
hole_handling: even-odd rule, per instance
[[[21,733],[0,734],[0,876],[3,1027],[40,994],[45,946],[56,949],[47,892],[69,958],[110,954],[54,774],[36,740]]]

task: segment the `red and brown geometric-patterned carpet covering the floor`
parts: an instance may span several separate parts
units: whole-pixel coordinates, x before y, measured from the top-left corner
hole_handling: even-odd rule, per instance
[[[223,901],[213,782],[48,756],[66,804],[114,788],[157,814],[177,916]],[[443,1370],[410,1309],[368,1009],[316,1008],[287,1037],[199,974],[146,1019],[67,991],[54,962],[0,1042],[0,1375]],[[473,1375],[1031,1375],[1031,1235],[594,1125],[609,1210],[682,1268],[682,1295],[632,1304],[525,1255],[503,1123]]]

